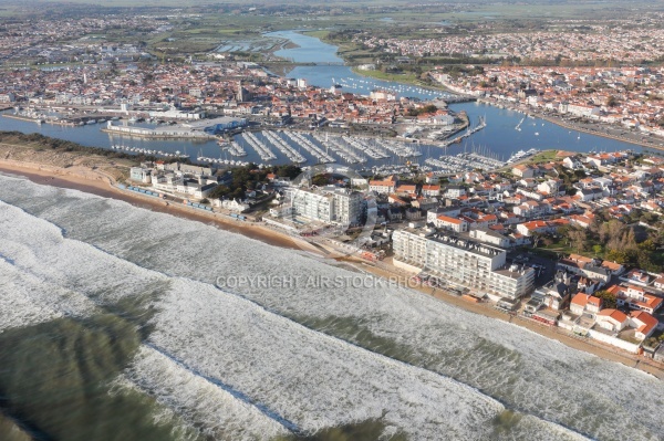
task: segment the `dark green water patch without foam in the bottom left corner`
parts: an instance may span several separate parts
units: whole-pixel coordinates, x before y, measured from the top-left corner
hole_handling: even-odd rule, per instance
[[[0,334],[2,413],[39,440],[197,438],[173,420],[157,423],[160,409],[151,397],[113,387],[149,333],[144,325],[149,314],[137,305],[116,307],[123,313],[59,318]]]

